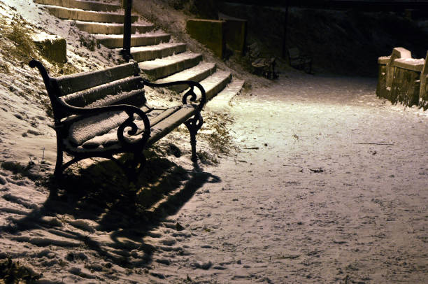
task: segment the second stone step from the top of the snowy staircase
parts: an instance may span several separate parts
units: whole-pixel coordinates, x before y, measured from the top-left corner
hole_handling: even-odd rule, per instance
[[[87,22],[118,22],[123,23],[123,13],[107,13],[107,12],[96,12],[89,10],[80,10],[73,8],[63,8],[58,6],[45,6],[49,12],[55,17],[64,20],[78,20]],[[138,20],[137,15],[131,16],[131,21],[136,22]]]

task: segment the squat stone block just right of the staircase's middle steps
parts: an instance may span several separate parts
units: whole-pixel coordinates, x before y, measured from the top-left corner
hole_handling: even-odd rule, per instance
[[[218,57],[223,57],[224,52],[224,22],[220,20],[187,20],[187,33],[207,48],[213,50]]]

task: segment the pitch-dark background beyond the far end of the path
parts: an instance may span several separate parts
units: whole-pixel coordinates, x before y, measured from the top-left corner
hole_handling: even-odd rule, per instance
[[[171,0],[177,8],[186,0]],[[191,1],[191,0],[187,0]],[[177,4],[178,3],[178,4]],[[218,12],[248,20],[247,43],[266,57],[287,61],[297,47],[313,59],[315,73],[377,76],[377,59],[392,48],[425,58],[428,1],[195,0],[193,13],[217,19]]]

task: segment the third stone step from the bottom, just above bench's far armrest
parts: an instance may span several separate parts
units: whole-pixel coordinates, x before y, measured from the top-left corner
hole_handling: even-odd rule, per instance
[[[211,62],[201,62],[197,66],[194,66],[190,69],[183,70],[181,72],[175,73],[171,76],[168,76],[163,79],[159,79],[156,83],[168,83],[173,81],[181,81],[181,80],[192,80],[200,82],[204,80],[208,76],[215,73],[217,66],[215,63]],[[176,92],[181,92],[187,88],[187,85],[175,85],[170,87],[171,90],[175,90]]]

